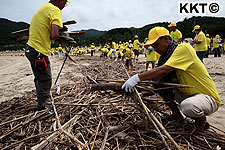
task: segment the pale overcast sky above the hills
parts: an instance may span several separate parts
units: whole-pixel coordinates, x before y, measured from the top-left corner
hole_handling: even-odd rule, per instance
[[[107,31],[113,28],[141,28],[157,22],[178,22],[192,16],[225,17],[224,0],[70,0],[62,10],[63,21],[75,20],[69,30],[97,29]],[[48,0],[1,0],[0,18],[30,23],[37,9]],[[187,5],[185,6],[185,4]],[[196,5],[197,3],[197,5]],[[211,13],[210,4],[219,6],[217,13]],[[190,12],[196,5],[200,13]],[[204,4],[204,9],[203,9]],[[207,4],[207,5],[205,5]],[[179,14],[180,6],[183,14]],[[185,8],[184,8],[185,7]],[[185,12],[186,9],[188,11]],[[204,10],[204,13],[202,11]]]

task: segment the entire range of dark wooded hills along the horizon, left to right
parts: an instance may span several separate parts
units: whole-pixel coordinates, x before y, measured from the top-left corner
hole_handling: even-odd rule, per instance
[[[148,32],[155,26],[163,26],[168,28],[169,22],[159,22],[149,25],[145,25],[142,28],[115,28],[109,31],[98,31],[95,29],[81,30],[85,31],[85,36],[74,37],[78,45],[89,45],[91,43],[104,44],[111,41],[128,41],[134,40],[134,36],[138,35],[140,41],[144,41],[148,37]],[[214,37],[216,34],[225,38],[225,18],[224,17],[191,17],[185,18],[183,21],[177,22],[177,28],[182,32],[183,38],[194,37],[192,29],[195,25],[200,25],[204,33],[210,34]],[[16,42],[15,35],[11,35],[12,31],[28,28],[29,24],[25,22],[13,22],[8,19],[0,18],[0,50],[3,49],[15,49],[15,45],[22,47],[25,41]],[[11,47],[10,47],[11,45]]]

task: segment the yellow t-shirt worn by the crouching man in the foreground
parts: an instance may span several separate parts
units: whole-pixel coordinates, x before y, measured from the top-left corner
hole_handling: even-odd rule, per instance
[[[179,88],[182,93],[188,95],[203,93],[212,96],[216,103],[221,105],[215,83],[190,44],[178,45],[165,65],[175,68],[181,84],[195,87]]]

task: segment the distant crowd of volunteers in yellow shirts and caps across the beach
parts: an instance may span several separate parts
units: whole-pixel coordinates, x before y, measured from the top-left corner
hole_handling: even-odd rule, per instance
[[[196,51],[197,56],[203,62],[203,58],[208,58],[210,53],[214,54],[214,57],[221,57],[221,54],[224,53],[224,41],[217,34],[214,38],[210,37],[209,34],[203,33],[199,25],[194,26],[193,34],[195,34],[194,39],[192,38],[183,38],[182,33],[177,29],[176,23],[172,22],[168,25],[170,29],[170,37],[176,43],[189,43],[192,45]],[[154,68],[158,63],[160,54],[154,51],[152,46],[145,48],[144,45],[148,38],[140,42],[138,35],[134,36],[133,41],[111,41],[104,45],[92,43],[89,46],[70,46],[62,48],[59,44],[59,47],[53,48],[51,50],[51,55],[59,55],[59,58],[62,58],[62,53],[66,53],[69,50],[70,55],[85,55],[90,54],[91,56],[100,55],[102,58],[110,58],[112,60],[124,60],[128,70],[132,70],[134,62],[138,61],[139,54],[145,55],[145,62],[147,71],[149,69],[149,64],[151,68]]]

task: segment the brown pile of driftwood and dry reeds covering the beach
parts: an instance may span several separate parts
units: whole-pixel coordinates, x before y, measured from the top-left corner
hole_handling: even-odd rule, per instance
[[[117,88],[108,90],[110,87],[93,90],[93,86],[102,88],[99,84],[118,85],[127,79],[121,62],[97,57],[73,59],[79,65],[67,63],[85,77],[74,77],[75,84],[61,86],[61,95],[52,91],[49,104],[53,111],[33,111],[35,91],[0,104],[0,149],[225,149],[224,132],[213,126],[204,131],[191,121],[162,121],[170,111],[157,95],[143,98],[141,104],[135,93],[127,95]],[[152,89],[149,85],[144,82],[139,89]],[[143,105],[174,143],[160,127],[157,129],[158,124],[150,121]]]

